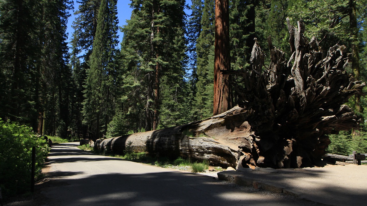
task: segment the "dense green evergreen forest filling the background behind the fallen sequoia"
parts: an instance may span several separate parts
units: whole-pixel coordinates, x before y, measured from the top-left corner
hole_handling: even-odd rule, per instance
[[[125,24],[117,0],[76,2],[0,0],[3,121],[40,135],[101,139],[213,115],[214,0],[131,0]],[[305,35],[323,49],[345,45],[348,72],[366,82],[366,16],[367,0],[229,0],[231,70],[249,65],[254,38],[269,56],[271,35],[289,58],[288,17],[293,25],[303,21]],[[230,101],[237,104],[235,93]],[[346,104],[360,128],[332,135],[329,151],[367,153],[366,96]]]

